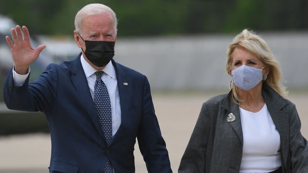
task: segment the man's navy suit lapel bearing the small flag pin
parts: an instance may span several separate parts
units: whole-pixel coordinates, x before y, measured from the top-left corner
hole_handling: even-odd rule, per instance
[[[123,71],[123,69],[116,63],[113,59],[111,60],[113,67],[116,72],[117,76],[117,82],[118,82],[118,91],[119,91],[119,97],[120,97],[120,105],[121,105],[121,124],[112,138],[109,145],[115,141],[119,134],[121,134],[124,131],[124,124],[126,123],[127,113],[128,113],[128,106],[129,106],[129,87],[131,86],[129,78],[127,78],[126,73]],[[127,85],[124,85],[124,83],[127,83]]]

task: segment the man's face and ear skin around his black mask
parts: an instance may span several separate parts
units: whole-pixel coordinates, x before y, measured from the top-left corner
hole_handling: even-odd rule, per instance
[[[114,29],[112,15],[109,13],[90,15],[83,19],[82,23],[82,33],[81,37],[84,40],[89,41],[115,41],[117,37],[117,30]],[[75,41],[78,47],[85,51],[85,42],[80,38],[77,31],[74,31]],[[85,60],[95,69],[100,69],[92,64],[82,52]]]

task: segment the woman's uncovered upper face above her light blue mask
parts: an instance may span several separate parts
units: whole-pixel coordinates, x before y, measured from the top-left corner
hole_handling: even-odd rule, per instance
[[[232,57],[231,70],[235,70],[242,65],[260,69],[265,66],[264,63],[258,57],[256,57],[243,47],[236,47],[232,52],[231,57]],[[265,70],[265,68],[263,70]],[[264,71],[262,72],[263,72],[262,74],[264,74]],[[231,71],[229,72],[229,74],[231,75]]]

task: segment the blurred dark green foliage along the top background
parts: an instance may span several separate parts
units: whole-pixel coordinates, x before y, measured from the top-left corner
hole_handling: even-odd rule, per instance
[[[0,14],[33,34],[73,35],[74,17],[89,3],[103,3],[118,16],[119,36],[306,30],[306,0],[6,0]]]

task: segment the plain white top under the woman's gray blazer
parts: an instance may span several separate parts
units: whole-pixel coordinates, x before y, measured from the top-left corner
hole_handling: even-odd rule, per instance
[[[266,104],[259,112],[239,108],[243,155],[239,173],[271,172],[281,166],[280,135]]]

